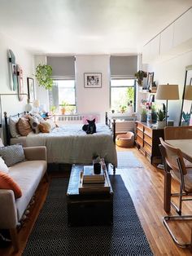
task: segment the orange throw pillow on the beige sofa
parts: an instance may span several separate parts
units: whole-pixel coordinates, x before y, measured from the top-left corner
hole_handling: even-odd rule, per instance
[[[0,171],[0,189],[11,189],[15,194],[15,198],[22,196],[20,186],[15,183],[10,175],[2,171]]]

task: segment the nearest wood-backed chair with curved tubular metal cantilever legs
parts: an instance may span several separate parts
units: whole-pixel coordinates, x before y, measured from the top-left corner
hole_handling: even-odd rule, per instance
[[[177,237],[174,236],[171,228],[168,226],[169,220],[179,220],[179,219],[192,219],[192,215],[182,215],[181,214],[181,207],[182,201],[191,201],[192,198],[183,198],[183,196],[192,195],[192,169],[187,169],[185,167],[185,162],[182,157],[181,150],[179,148],[174,148],[168,143],[164,142],[162,138],[160,138],[160,150],[162,153],[162,157],[164,160],[164,170],[165,175],[169,174],[170,177],[168,179],[175,179],[178,183],[180,183],[180,192],[175,194],[168,194],[168,196],[179,196],[179,206],[175,205],[172,201],[170,201],[171,205],[177,210],[178,215],[172,216],[164,216],[163,221],[164,225],[167,228],[169,234],[172,236],[173,241],[180,247],[190,247],[192,249],[192,240],[190,243],[185,243],[183,241],[177,241]],[[171,181],[171,180],[170,180]],[[166,185],[166,183],[165,183]],[[170,182],[171,186],[171,182]],[[171,190],[171,188],[165,188],[165,191]],[[165,196],[165,195],[164,195]],[[191,236],[192,238],[192,236]]]

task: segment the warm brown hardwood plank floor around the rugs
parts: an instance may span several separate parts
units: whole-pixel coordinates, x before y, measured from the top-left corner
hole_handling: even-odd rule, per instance
[[[118,148],[118,150],[122,150]],[[124,150],[124,149],[123,149]],[[129,190],[129,194],[133,199],[133,203],[140,218],[142,227],[146,233],[146,237],[151,245],[151,249],[155,255],[191,255],[189,249],[181,249],[177,247],[168,235],[167,230],[162,223],[162,217],[166,214],[163,209],[164,199],[164,174],[163,170],[151,166],[150,162],[142,156],[137,148],[127,149],[132,151],[135,157],[142,162],[143,168],[132,168],[130,170],[116,170],[116,174],[120,174],[124,179],[124,184]],[[60,175],[61,173],[59,173]],[[57,175],[57,174],[55,174]],[[62,174],[63,175],[63,174]],[[66,174],[64,174],[66,175]],[[14,254],[11,247],[0,249],[0,255],[21,255],[30,234],[33,224],[38,216],[43,202],[46,199],[49,183],[41,183],[36,193],[36,203],[33,210],[28,215],[27,221],[19,232],[20,251]],[[172,183],[173,191],[177,191],[177,183]],[[187,205],[185,205],[187,204]],[[188,207],[188,205],[190,205]],[[192,202],[184,203],[184,213],[190,214],[192,210]],[[174,214],[174,211],[172,211]],[[190,241],[190,229],[192,223],[172,223],[177,236],[181,236],[184,241]]]

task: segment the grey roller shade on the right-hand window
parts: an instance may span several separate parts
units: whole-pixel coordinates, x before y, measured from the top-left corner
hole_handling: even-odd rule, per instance
[[[111,76],[134,77],[137,73],[137,55],[133,56],[111,56]]]

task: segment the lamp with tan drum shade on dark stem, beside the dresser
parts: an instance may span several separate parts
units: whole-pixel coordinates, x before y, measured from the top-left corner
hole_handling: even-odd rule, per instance
[[[179,86],[178,85],[159,85],[157,87],[157,93],[155,99],[166,100],[165,109],[165,122],[167,126],[168,121],[168,100],[179,99]]]

